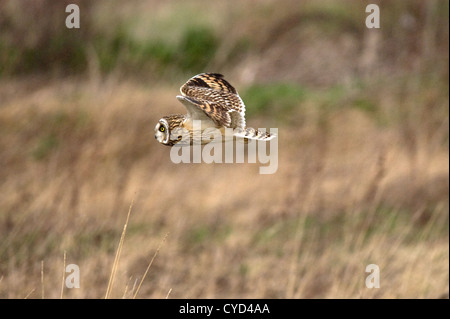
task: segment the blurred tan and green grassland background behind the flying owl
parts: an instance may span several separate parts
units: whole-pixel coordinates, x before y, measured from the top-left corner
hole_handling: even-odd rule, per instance
[[[200,72],[275,174],[155,141]],[[448,72],[443,0],[0,0],[0,298],[103,298],[131,203],[110,297],[448,298]]]

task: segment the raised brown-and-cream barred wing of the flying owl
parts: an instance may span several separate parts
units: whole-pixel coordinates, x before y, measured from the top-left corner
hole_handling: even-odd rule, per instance
[[[190,78],[177,96],[192,119],[204,120],[195,108],[217,126],[245,128],[245,105],[236,89],[218,73],[201,73]],[[194,108],[193,108],[194,107]]]

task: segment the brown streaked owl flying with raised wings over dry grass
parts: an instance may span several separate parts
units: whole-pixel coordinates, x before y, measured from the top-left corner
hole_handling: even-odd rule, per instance
[[[245,105],[236,89],[218,73],[201,73],[190,78],[181,88],[178,101],[187,114],[162,117],[155,127],[156,140],[173,146],[181,141],[180,132],[190,134],[190,144],[196,137],[194,121],[201,123],[201,131],[215,128],[224,136],[225,128],[233,129],[233,136],[250,140],[269,141],[274,134],[249,128],[245,123]],[[201,134],[201,132],[200,132]],[[201,137],[199,138],[201,139]],[[223,139],[224,140],[224,139]],[[209,141],[201,139],[205,144]]]

